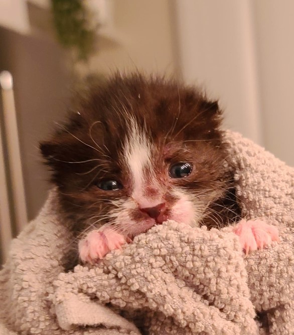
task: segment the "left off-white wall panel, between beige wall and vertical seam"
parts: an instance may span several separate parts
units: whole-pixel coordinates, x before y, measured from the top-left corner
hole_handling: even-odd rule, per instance
[[[220,99],[226,126],[262,144],[256,54],[248,1],[185,0],[176,7],[187,82]]]

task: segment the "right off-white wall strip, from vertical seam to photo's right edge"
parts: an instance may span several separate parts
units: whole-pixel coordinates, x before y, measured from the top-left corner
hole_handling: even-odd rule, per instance
[[[264,142],[294,166],[294,1],[253,4]]]

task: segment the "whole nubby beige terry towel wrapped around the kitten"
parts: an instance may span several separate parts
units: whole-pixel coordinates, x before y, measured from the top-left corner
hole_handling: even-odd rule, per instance
[[[64,273],[72,236],[53,190],[0,272],[0,334],[294,334],[294,170],[226,136],[242,215],[276,225],[279,243],[244,257],[232,227],[166,222]]]

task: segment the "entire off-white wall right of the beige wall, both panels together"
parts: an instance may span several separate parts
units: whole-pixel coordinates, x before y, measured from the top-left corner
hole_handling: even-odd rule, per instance
[[[184,79],[220,98],[227,127],[294,165],[294,2],[173,4]]]

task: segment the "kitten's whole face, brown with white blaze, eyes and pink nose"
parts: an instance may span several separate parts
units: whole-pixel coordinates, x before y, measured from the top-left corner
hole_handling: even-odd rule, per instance
[[[224,194],[219,123],[217,103],[194,89],[116,77],[41,149],[77,229],[132,238],[167,219],[197,226]]]

